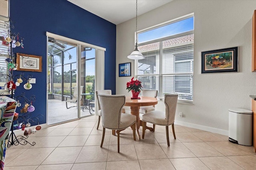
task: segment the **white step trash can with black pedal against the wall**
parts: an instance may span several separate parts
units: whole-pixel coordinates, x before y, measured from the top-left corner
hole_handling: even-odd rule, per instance
[[[228,140],[239,145],[252,146],[253,112],[246,109],[228,109]]]

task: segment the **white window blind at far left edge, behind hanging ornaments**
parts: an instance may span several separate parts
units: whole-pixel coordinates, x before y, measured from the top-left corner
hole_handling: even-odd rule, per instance
[[[8,45],[3,45],[3,40],[7,34],[8,29],[6,28],[6,23],[0,20],[0,93],[2,93],[3,89],[6,90],[6,82],[8,82],[8,76],[3,75],[8,75],[8,65],[7,62],[5,61],[5,59],[8,57]]]

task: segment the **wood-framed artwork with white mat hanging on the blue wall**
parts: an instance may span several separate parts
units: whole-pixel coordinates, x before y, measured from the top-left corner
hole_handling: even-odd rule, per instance
[[[17,53],[16,63],[19,71],[42,72],[42,56]]]

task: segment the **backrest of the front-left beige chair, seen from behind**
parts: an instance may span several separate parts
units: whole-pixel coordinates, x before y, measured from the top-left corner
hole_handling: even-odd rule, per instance
[[[107,129],[119,129],[125,95],[98,94],[98,98],[101,107],[102,126]]]

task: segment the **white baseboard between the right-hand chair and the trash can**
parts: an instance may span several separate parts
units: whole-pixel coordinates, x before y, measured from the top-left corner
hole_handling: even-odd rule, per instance
[[[228,131],[223,130],[223,129],[217,129],[217,128],[214,128],[214,127],[197,125],[197,124],[187,123],[187,122],[183,122],[183,121],[174,121],[174,124],[175,125],[182,125],[182,126],[186,126],[186,127],[192,127],[192,128],[200,129],[200,130],[203,130],[203,131],[208,131],[208,132],[218,133],[220,135],[228,136]]]

